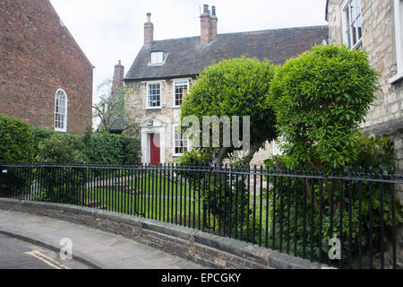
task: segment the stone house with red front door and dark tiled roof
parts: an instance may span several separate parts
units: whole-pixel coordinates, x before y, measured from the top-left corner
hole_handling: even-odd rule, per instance
[[[210,11],[209,5],[204,5],[200,36],[154,40],[148,13],[144,45],[123,80],[136,91],[125,103],[130,115],[126,121],[140,123],[137,130],[129,132],[141,136],[143,163],[176,161],[189,149],[176,125],[182,100],[204,67],[241,56],[270,59],[280,65],[328,37],[327,26],[218,34],[218,21],[215,6]],[[123,123],[116,125],[114,132],[119,129]],[[270,152],[260,151],[253,163],[269,156]]]

